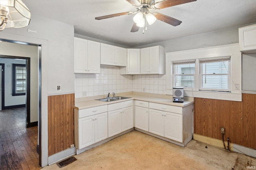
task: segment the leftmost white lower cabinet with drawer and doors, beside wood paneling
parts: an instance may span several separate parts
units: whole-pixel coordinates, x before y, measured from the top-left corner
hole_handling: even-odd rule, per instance
[[[82,149],[108,138],[108,107],[74,109],[76,149]]]

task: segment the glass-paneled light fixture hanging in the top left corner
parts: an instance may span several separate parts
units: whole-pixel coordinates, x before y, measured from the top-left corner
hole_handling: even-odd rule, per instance
[[[0,31],[28,26],[31,13],[21,0],[0,0]]]

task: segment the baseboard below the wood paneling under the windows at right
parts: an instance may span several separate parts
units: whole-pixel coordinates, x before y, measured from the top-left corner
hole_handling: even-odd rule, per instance
[[[221,147],[224,149],[224,145],[222,140],[219,139],[214,139],[211,137],[206,137],[206,136],[202,136],[202,135],[198,135],[198,134],[193,134],[193,139],[196,141],[200,141],[209,145],[213,145],[216,147]],[[228,146],[228,142],[225,142],[226,147]],[[242,154],[246,154],[249,156],[252,156],[254,158],[256,158],[256,149],[252,149],[252,148],[248,148],[248,147],[244,147],[241,145],[237,145],[234,143],[230,143],[229,144],[230,150],[234,151],[234,152],[238,152],[238,153],[242,153]]]

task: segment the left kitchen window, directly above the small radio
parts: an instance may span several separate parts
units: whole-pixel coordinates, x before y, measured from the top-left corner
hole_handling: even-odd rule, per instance
[[[188,87],[193,88],[194,74],[195,74],[195,61],[187,62],[173,62],[173,76],[174,87]]]

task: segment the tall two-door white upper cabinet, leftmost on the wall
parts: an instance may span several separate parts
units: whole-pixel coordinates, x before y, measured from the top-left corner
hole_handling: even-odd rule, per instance
[[[74,37],[74,73],[100,73],[100,43]]]

